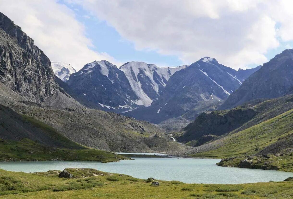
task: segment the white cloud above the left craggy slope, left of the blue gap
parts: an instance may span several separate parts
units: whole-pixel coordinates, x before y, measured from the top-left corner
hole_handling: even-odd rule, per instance
[[[84,26],[67,6],[57,0],[0,0],[1,12],[19,25],[51,61],[64,61],[76,70],[94,60],[106,59],[120,66],[107,53],[91,50]]]

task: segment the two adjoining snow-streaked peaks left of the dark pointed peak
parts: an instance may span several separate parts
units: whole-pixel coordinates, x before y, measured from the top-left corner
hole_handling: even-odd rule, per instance
[[[118,69],[108,61],[94,61],[72,74],[66,83],[87,106],[123,113],[151,105],[170,76],[187,66],[159,68],[144,62],[127,62]]]

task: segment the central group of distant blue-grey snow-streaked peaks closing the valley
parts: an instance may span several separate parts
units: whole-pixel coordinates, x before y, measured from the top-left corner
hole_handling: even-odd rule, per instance
[[[89,108],[151,123],[183,118],[186,124],[205,110],[217,109],[259,68],[236,71],[210,57],[176,68],[127,62],[118,69],[102,60],[86,64],[66,83],[71,95]]]

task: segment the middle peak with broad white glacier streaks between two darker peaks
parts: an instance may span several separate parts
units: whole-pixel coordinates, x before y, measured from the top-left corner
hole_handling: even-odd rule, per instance
[[[119,69],[123,71],[131,85],[132,90],[139,98],[135,103],[142,106],[150,106],[157,100],[165,88],[169,78],[178,70],[188,65],[176,68],[160,68],[154,64],[144,62],[127,62]]]

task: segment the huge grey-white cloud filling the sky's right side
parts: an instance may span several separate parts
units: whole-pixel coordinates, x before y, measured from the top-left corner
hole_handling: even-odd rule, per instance
[[[293,40],[290,0],[68,1],[107,21],[138,50],[177,55],[185,63],[210,56],[236,69],[260,65],[268,50]]]

